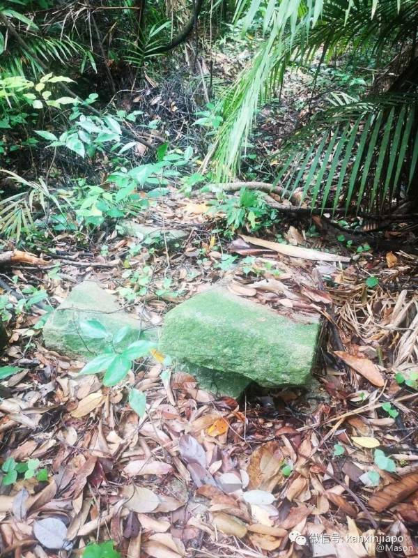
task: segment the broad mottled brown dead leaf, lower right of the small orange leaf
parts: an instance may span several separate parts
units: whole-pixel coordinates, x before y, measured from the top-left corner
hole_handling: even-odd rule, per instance
[[[283,453],[278,442],[267,442],[259,446],[251,455],[247,467],[249,490],[258,488],[272,492],[283,478],[281,473],[283,461]]]

